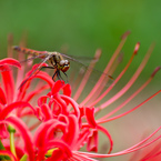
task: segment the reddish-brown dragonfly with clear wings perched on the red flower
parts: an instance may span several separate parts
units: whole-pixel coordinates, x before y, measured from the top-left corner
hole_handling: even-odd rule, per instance
[[[49,69],[56,70],[53,76],[52,76],[53,81],[54,81],[54,77],[57,77],[59,80],[63,80],[63,78],[61,77],[61,72],[67,77],[67,81],[68,81],[68,76],[66,72],[70,69],[70,61],[74,61],[74,62],[81,64],[82,67],[84,67],[85,69],[89,68],[88,66],[83,64],[81,61],[72,58],[71,56],[60,53],[57,51],[53,51],[53,52],[37,51],[37,50],[28,49],[28,48],[22,48],[19,46],[13,46],[13,50],[21,52],[21,53],[32,56],[31,58],[29,58],[24,61],[33,60],[37,58],[42,59],[41,63],[39,63],[39,66],[30,73],[28,79],[21,83],[20,88],[29,80],[29,78],[31,78],[33,74],[36,74],[36,72],[39,71],[41,68],[49,68]],[[49,66],[42,67],[42,64],[46,63],[47,61],[48,61]],[[95,69],[92,69],[92,70],[95,70]],[[97,72],[100,72],[100,71],[97,71]],[[111,76],[109,76],[107,73],[102,73],[102,74],[105,74],[105,77],[113,80],[113,78]]]

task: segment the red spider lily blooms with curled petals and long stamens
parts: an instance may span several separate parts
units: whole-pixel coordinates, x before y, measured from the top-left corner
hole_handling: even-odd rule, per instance
[[[104,72],[110,70],[113,61],[125,42],[127,36],[128,34],[125,33],[124,37],[122,37],[121,43],[111,58]],[[94,117],[100,110],[107,108],[124,94],[141,73],[148,61],[149,54],[151,53],[151,49],[148,51],[137,72],[122,88],[122,90],[120,90],[111,99],[97,107],[97,103],[112,90],[112,88],[124,74],[133,57],[137,54],[139,46],[140,44],[137,43],[129,63],[113,81],[113,83],[105,91],[103,91],[103,88],[100,84],[102,84],[104,76],[101,76],[90,94],[81,103],[77,103],[76,100],[79,98],[85,81],[90,77],[89,72],[85,76],[85,79],[82,80],[80,88],[72,99],[70,84],[60,80],[53,82],[52,78],[43,71],[40,71],[37,76],[31,77],[21,89],[17,90],[20,83],[28,78],[30,72],[36,67],[33,66],[32,70],[26,74],[26,78],[23,78],[24,69],[22,68],[21,70],[18,70],[16,81],[10,67],[13,66],[21,68],[19,61],[12,58],[0,60],[0,160],[93,161],[98,160],[97,158],[110,158],[131,152],[137,153],[139,150],[148,147],[149,150],[144,151],[142,155],[140,154],[139,160],[160,160],[160,144],[154,143],[159,142],[159,139],[161,138],[160,134],[157,134],[160,132],[161,127],[139,143],[120,152],[112,153],[112,137],[107,128],[102,125],[104,122],[109,122],[131,113],[161,92],[161,90],[159,90],[149,99],[144,100],[142,103],[130,109],[129,111],[111,117],[149,84],[160,67],[154,70],[150,79],[143,85],[133,92],[133,94],[131,94],[118,108],[110,113],[102,115],[100,119],[95,119]],[[39,78],[40,81],[37,84],[32,84],[31,82],[36,78]],[[47,90],[50,91],[43,95]],[[84,105],[85,103],[87,105]],[[107,154],[98,153],[99,132],[104,133],[109,140],[109,143],[107,143]],[[88,152],[80,150],[84,145],[87,145]],[[135,155],[133,155],[131,160],[132,159],[134,160]]]

